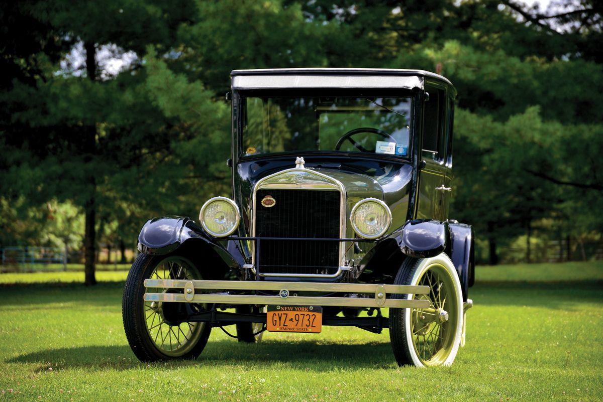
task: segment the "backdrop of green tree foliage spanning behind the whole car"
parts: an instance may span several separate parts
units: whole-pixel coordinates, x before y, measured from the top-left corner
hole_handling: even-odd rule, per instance
[[[453,213],[490,261],[535,228],[601,233],[601,15],[593,0],[2,2],[0,245],[78,232],[77,247],[84,225],[92,249],[132,247],[146,218],[194,216],[230,192],[230,70],[309,66],[455,84]]]

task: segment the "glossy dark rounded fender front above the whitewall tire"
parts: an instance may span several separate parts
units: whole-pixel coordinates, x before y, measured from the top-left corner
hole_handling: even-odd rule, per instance
[[[435,257],[446,250],[450,229],[447,222],[414,219],[391,233],[405,255],[413,258]]]

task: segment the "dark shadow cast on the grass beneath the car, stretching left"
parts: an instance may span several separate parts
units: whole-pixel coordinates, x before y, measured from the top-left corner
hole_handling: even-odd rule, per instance
[[[387,335],[385,335],[387,336]],[[385,341],[387,339],[387,341]],[[143,363],[136,359],[130,347],[87,346],[57,348],[6,359],[5,363],[33,363],[36,373],[85,369],[104,370],[174,370],[186,367],[212,367],[236,370],[282,368],[292,370],[332,371],[354,368],[391,369],[396,365],[389,338],[384,342],[365,344],[338,344],[313,341],[268,341],[259,344],[243,344],[230,340],[209,341],[196,360],[171,360],[168,362]],[[321,342],[321,343],[318,343]],[[50,370],[52,368],[52,370]]]

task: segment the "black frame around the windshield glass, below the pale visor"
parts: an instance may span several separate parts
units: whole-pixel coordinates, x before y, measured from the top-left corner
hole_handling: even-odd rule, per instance
[[[413,159],[415,150],[415,137],[417,133],[417,100],[418,91],[405,88],[278,88],[278,89],[253,89],[232,90],[232,156],[235,162],[252,159],[282,158],[282,156],[316,155],[316,156],[344,156],[351,158],[367,159],[389,159],[397,162],[409,162]],[[376,152],[350,152],[347,150],[291,150],[285,152],[259,153],[257,155],[245,155],[243,149],[243,125],[244,125],[244,100],[247,97],[408,97],[411,103],[409,122],[408,152],[406,155],[390,155]]]

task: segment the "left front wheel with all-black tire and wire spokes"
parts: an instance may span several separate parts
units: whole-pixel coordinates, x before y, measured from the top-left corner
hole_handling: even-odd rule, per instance
[[[177,268],[175,268],[176,264],[178,264]],[[166,267],[169,268],[167,271]],[[162,275],[159,273],[162,273]],[[124,298],[122,300],[125,336],[132,351],[143,362],[194,359],[199,356],[207,344],[211,326],[206,323],[180,323],[178,325],[166,323],[163,316],[164,305],[161,302],[153,302],[155,303],[153,304],[144,301],[144,281],[151,276],[160,279],[201,279],[198,269],[192,264],[191,260],[184,255],[178,255],[177,252],[163,256],[151,256],[142,253],[136,258],[125,282]],[[154,290],[154,292],[162,291],[166,291],[166,289]],[[170,291],[175,291],[175,289]],[[182,289],[180,292],[182,292]],[[175,303],[164,304],[172,307]],[[204,307],[192,304],[190,306],[194,311],[200,311]],[[164,329],[166,331],[165,337]],[[156,331],[154,338],[153,330]],[[172,333],[174,334],[174,343],[172,343]],[[181,333],[182,341],[180,340]],[[169,348],[165,344],[168,335]],[[161,338],[161,343],[158,342],[158,338]]]

